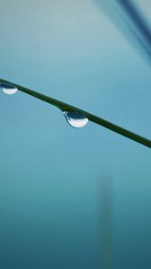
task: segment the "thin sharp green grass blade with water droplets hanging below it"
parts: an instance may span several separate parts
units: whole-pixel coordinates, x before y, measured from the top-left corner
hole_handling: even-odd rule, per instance
[[[98,124],[100,126],[103,126],[107,129],[110,129],[111,131],[115,132],[115,133],[118,133],[118,134],[121,134],[125,137],[128,137],[129,139],[133,140],[133,141],[136,141],[138,143],[141,143],[149,148],[151,148],[151,140],[139,135],[139,134],[135,134],[133,132],[130,132],[129,130],[127,129],[124,129],[120,126],[117,126],[115,124],[112,124],[111,122],[103,119],[102,117],[97,117],[87,111],[84,111],[83,109],[81,108],[76,108],[74,106],[71,106],[65,102],[62,102],[60,100],[56,100],[56,99],[53,99],[49,96],[46,96],[44,94],[41,94],[40,92],[37,92],[37,91],[32,91],[28,88],[24,88],[22,87],[21,85],[18,85],[18,84],[15,84],[13,82],[8,82],[8,81],[5,81],[5,80],[2,80],[0,79],[0,82],[5,82],[5,83],[9,83],[9,84],[12,84],[13,86],[17,87],[17,89],[19,91],[22,91],[24,93],[27,93],[37,99],[40,99],[40,100],[43,100],[59,109],[61,109],[62,111],[72,111],[72,112],[78,112],[78,113],[81,113],[83,114],[85,117],[87,117],[90,121],[92,121],[93,123],[95,124]]]

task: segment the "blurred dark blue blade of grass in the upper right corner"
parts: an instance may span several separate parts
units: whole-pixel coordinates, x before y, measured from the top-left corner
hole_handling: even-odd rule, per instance
[[[132,0],[92,0],[129,42],[151,64],[151,30],[147,19]]]

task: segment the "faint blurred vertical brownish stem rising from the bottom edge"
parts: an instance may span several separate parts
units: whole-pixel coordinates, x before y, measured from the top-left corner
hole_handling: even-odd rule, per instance
[[[100,268],[113,269],[113,189],[112,180],[103,177],[99,183]]]

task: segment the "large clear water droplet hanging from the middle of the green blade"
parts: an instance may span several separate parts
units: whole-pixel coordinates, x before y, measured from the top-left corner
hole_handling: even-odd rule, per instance
[[[88,118],[85,117],[83,114],[68,111],[64,111],[63,113],[67,119],[68,124],[72,127],[82,128],[88,123]]]

